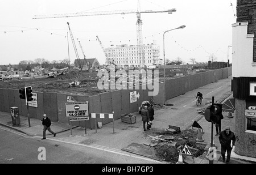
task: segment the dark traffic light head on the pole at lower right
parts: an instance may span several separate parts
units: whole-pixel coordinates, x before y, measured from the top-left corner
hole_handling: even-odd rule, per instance
[[[221,119],[223,119],[222,115],[222,104],[213,103],[208,106],[204,111],[204,117],[208,122],[217,123]]]

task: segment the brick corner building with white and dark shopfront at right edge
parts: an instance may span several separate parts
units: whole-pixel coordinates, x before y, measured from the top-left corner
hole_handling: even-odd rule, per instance
[[[237,0],[237,22],[232,29],[237,138],[234,152],[256,157],[256,0]]]

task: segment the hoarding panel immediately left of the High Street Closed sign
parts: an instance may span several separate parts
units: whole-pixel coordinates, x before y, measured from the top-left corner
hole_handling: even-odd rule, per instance
[[[66,117],[65,102],[67,102],[67,95],[63,93],[57,93],[58,119],[59,122],[62,123],[68,123],[68,117]]]

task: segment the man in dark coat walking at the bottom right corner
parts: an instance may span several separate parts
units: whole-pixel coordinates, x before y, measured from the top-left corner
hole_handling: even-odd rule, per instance
[[[222,161],[225,161],[225,153],[227,152],[226,163],[228,163],[230,160],[232,148],[236,142],[236,136],[232,131],[230,131],[230,127],[226,126],[225,130],[221,131],[218,139],[220,140],[220,144],[221,144]]]

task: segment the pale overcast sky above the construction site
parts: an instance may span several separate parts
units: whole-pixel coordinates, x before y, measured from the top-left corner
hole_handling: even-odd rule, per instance
[[[140,0],[139,10],[176,12],[141,14],[143,44],[160,47],[160,58],[184,63],[214,61],[232,62],[232,24],[236,23],[236,0]],[[39,16],[79,12],[138,10],[137,0],[1,0],[0,65],[19,64],[44,58],[76,59],[68,24],[80,59],[97,58],[105,63],[104,48],[110,45],[137,45],[136,14],[44,18]],[[36,19],[33,19],[36,18]],[[183,29],[175,29],[186,25]],[[166,32],[163,39],[163,33]],[[79,45],[82,46],[82,49]],[[164,49],[163,49],[164,42]]]

